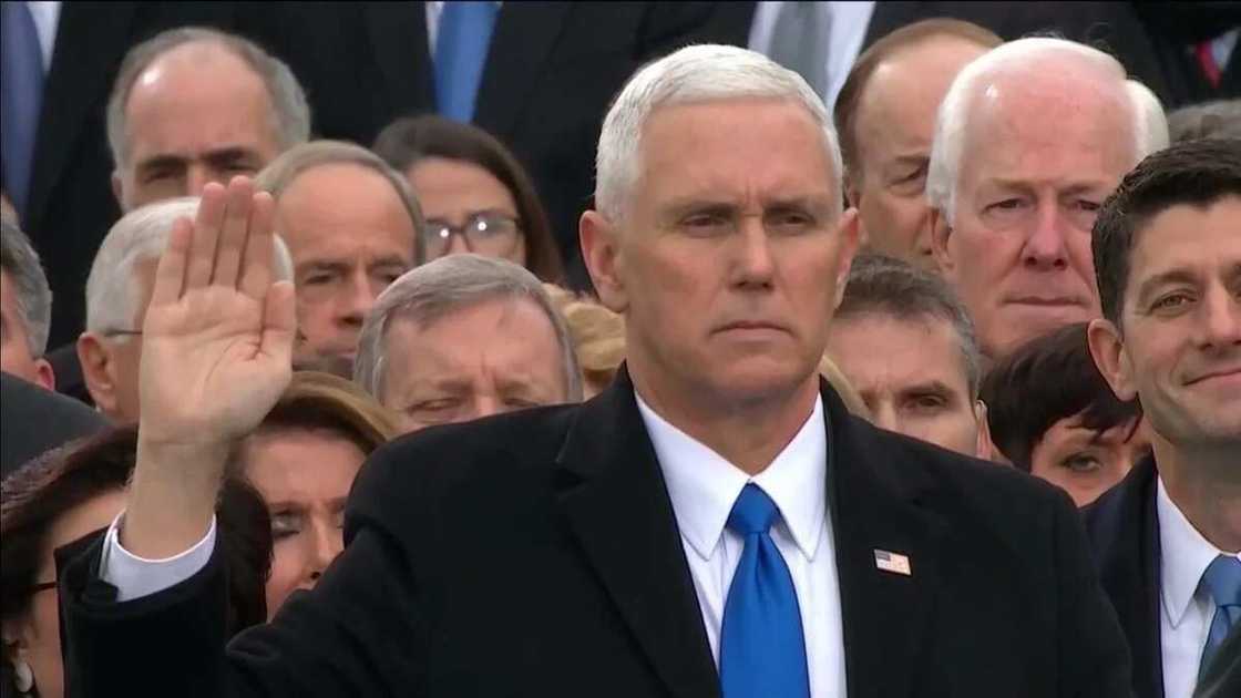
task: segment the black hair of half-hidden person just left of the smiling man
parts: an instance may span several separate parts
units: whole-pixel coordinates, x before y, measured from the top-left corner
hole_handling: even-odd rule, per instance
[[[1014,466],[1029,472],[1034,447],[1057,421],[1082,415],[1096,433],[1119,425],[1137,428],[1142,407],[1121,401],[1098,373],[1086,344],[1086,323],[1036,337],[995,364],[983,379],[992,441]]]

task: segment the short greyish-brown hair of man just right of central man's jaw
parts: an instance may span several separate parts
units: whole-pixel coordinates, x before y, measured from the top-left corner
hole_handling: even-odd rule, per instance
[[[913,265],[877,253],[854,258],[838,319],[887,315],[902,320],[934,318],[948,323],[961,345],[970,399],[978,395],[982,355],[969,312],[941,277]]]

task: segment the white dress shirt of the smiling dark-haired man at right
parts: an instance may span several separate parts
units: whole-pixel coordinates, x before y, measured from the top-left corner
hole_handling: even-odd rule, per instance
[[[1163,478],[1155,496],[1159,519],[1160,631],[1163,643],[1164,698],[1190,698],[1198,683],[1206,636],[1215,617],[1211,595],[1200,589],[1203,573],[1219,555],[1227,555],[1189,523],[1168,497]],[[1241,558],[1241,554],[1234,555]]]

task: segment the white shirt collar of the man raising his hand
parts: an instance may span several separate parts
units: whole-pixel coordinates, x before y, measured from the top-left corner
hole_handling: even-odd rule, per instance
[[[753,482],[776,502],[802,554],[814,559],[827,522],[828,435],[822,397],[815,397],[805,424],[767,469],[750,477],[634,396],[664,471],[676,524],[695,553],[704,560],[711,558],[732,504],[746,483]]]

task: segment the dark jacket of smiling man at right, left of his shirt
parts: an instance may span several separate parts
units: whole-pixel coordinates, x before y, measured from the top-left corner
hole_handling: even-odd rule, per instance
[[[1163,698],[1157,476],[1147,458],[1082,510],[1100,581],[1129,640],[1137,698]]]

